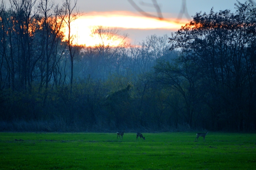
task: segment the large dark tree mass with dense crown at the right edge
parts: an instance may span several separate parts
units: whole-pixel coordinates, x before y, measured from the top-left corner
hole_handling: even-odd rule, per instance
[[[209,14],[193,16],[193,21],[169,38],[170,49],[181,52],[178,68],[166,64],[167,68],[160,68],[162,78],[172,80],[172,87],[187,82],[177,90],[184,99],[187,92],[186,103],[201,100],[207,104],[212,116],[206,119],[217,129],[255,126],[256,10],[248,3],[235,6],[234,13],[212,9]],[[208,115],[203,111],[201,114]]]

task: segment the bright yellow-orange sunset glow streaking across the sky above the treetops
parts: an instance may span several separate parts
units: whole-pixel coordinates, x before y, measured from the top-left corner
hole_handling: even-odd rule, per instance
[[[159,20],[142,15],[135,15],[127,11],[90,12],[72,22],[71,34],[75,37],[73,41],[74,44],[94,46],[101,42],[97,35],[91,33],[92,28],[97,26],[105,28],[116,27],[117,29],[164,29],[168,31],[178,30],[182,25],[185,25],[185,22],[177,23],[176,19],[168,18]],[[66,36],[67,35],[68,33],[66,31]],[[130,41],[129,37],[127,40],[128,42]],[[122,35],[120,35],[120,37],[116,36],[114,40],[109,40],[108,37],[105,37],[103,41],[110,46],[118,46],[123,41],[123,37]]]

